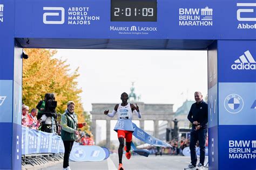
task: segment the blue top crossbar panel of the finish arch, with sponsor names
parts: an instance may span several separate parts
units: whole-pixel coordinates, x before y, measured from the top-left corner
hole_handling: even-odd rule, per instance
[[[199,0],[193,3],[190,0],[156,0],[156,6],[149,4],[149,1],[143,1],[145,4],[143,7],[139,5],[139,0],[131,1],[129,4],[122,3],[125,1],[114,4],[111,0],[87,0],[86,3],[80,0],[63,0],[61,3],[43,0],[15,2],[15,37],[21,38],[255,39],[256,37],[253,12],[256,5],[241,3],[239,0],[218,3],[215,0]],[[151,20],[151,16],[155,19]]]

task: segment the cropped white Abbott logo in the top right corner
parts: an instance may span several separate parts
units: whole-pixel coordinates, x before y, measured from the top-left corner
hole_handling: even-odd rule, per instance
[[[256,29],[256,24],[252,24],[252,22],[256,22],[254,12],[256,3],[237,3],[237,6],[239,7],[237,10],[237,20],[239,22],[244,22],[239,23],[237,29]]]

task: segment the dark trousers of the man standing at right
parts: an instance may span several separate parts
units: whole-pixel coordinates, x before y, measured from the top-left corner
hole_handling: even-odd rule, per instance
[[[196,144],[199,141],[200,147],[200,163],[204,165],[205,162],[205,140],[207,129],[192,130],[190,132],[190,157],[191,164],[197,165]]]

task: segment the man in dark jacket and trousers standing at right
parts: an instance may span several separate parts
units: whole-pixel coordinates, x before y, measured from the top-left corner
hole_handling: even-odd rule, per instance
[[[208,122],[208,105],[203,101],[203,95],[200,91],[194,93],[194,99],[196,103],[193,103],[190,108],[190,112],[187,115],[187,119],[192,123],[192,129],[190,132],[190,156],[191,164],[188,166],[193,169],[197,165],[196,143],[199,141],[200,146],[200,161],[198,167],[204,167],[205,161],[205,140],[207,134],[207,122]]]

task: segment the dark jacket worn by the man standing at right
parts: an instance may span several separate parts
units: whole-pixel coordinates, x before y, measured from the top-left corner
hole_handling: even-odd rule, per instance
[[[187,115],[187,119],[192,123],[192,129],[196,128],[196,125],[193,124],[194,121],[200,123],[201,128],[207,129],[208,104],[203,100],[199,104],[193,103]]]

